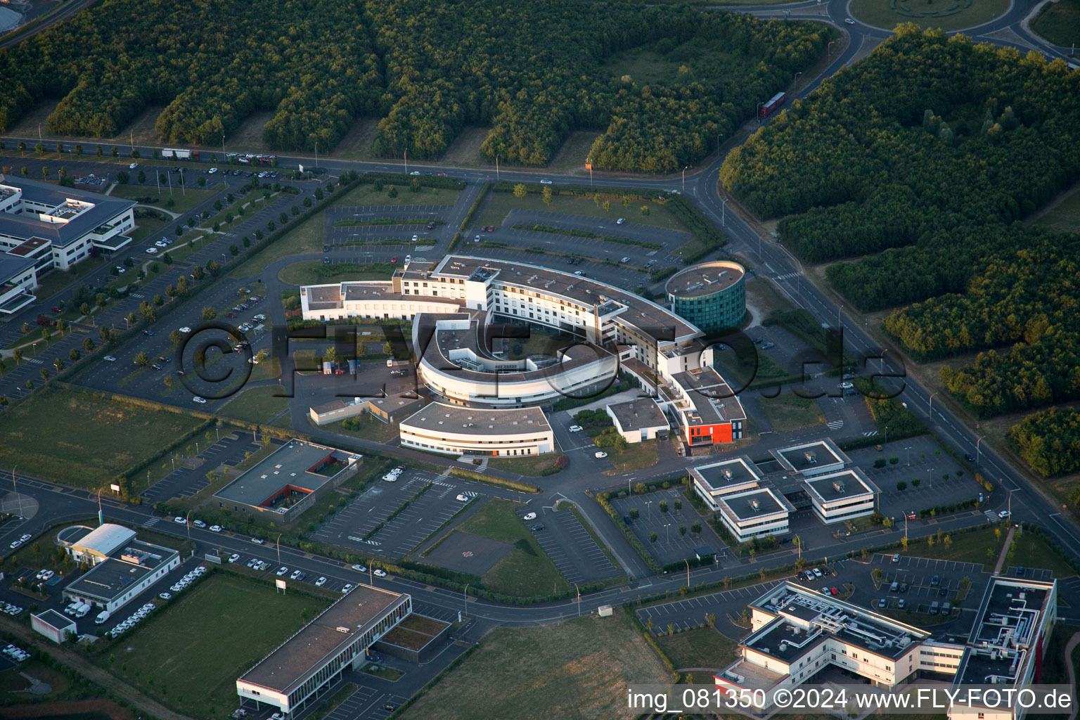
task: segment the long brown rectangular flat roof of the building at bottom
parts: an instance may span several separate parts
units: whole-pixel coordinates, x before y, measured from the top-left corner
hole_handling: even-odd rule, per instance
[[[406,597],[361,583],[240,679],[287,695],[342,647],[367,631],[383,610]]]

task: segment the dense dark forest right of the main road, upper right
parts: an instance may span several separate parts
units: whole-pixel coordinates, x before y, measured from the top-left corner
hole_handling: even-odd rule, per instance
[[[1080,237],[1021,220],[1080,176],[1080,73],[902,26],[720,180],[980,417],[1080,398]]]

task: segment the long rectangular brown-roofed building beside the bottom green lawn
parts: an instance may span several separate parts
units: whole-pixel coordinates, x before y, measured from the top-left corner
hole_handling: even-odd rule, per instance
[[[411,596],[357,585],[239,678],[237,694],[286,717],[310,707],[411,612]]]

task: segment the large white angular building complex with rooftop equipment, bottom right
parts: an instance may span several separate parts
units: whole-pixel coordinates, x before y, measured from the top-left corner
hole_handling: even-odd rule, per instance
[[[935,640],[928,630],[792,582],[747,607],[752,631],[739,642],[740,656],[714,676],[723,692],[792,688],[836,669],[886,689],[919,679],[1021,688],[1038,679],[1057,594],[1056,581],[990,579],[964,643]],[[978,712],[983,720],[1020,715]]]

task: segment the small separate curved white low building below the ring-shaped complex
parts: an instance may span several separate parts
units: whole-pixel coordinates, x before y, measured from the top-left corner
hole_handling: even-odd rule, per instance
[[[454,456],[515,458],[555,450],[539,408],[484,409],[432,403],[399,426],[402,447]]]

